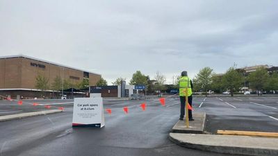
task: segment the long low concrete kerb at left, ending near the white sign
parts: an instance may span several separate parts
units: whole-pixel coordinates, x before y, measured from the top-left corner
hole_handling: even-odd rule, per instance
[[[31,116],[53,114],[53,113],[58,113],[58,112],[63,112],[63,110],[45,110],[45,111],[39,111],[39,112],[27,112],[27,113],[21,113],[21,114],[0,116],[0,122],[1,121],[9,121],[9,120],[13,120],[13,119],[22,119],[22,118],[31,117]]]

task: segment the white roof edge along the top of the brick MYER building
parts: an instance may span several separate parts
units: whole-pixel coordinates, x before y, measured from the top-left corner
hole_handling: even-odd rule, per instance
[[[7,55],[7,56],[0,56],[0,59],[1,58],[28,58],[28,59],[31,59],[31,60],[37,60],[37,61],[40,61],[40,62],[54,64],[54,65],[58,65],[60,67],[66,67],[66,68],[75,69],[75,70],[79,70],[79,71],[85,71],[85,72],[88,72],[88,73],[93,73],[93,74],[101,76],[101,74],[99,74],[99,73],[95,73],[95,72],[91,72],[91,71],[86,71],[86,70],[70,67],[70,66],[63,65],[63,64],[58,64],[58,63],[55,63],[55,62],[50,62],[50,61],[42,60],[42,59],[39,59],[39,58],[33,58],[33,57],[30,57],[30,56],[27,56],[27,55]]]

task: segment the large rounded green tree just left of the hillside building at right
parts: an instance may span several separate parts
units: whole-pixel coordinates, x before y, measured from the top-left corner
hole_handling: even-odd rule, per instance
[[[229,89],[231,96],[238,91],[243,84],[243,75],[236,71],[236,66],[230,67],[222,77],[224,89]]]

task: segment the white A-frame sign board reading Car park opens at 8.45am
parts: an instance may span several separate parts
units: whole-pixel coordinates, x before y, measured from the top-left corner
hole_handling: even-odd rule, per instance
[[[72,126],[102,128],[104,106],[102,98],[74,98]]]

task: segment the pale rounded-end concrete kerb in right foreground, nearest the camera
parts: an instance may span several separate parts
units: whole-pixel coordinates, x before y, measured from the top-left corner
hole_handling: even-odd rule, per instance
[[[278,139],[275,138],[170,133],[170,140],[186,148],[215,153],[256,156],[278,155]]]

